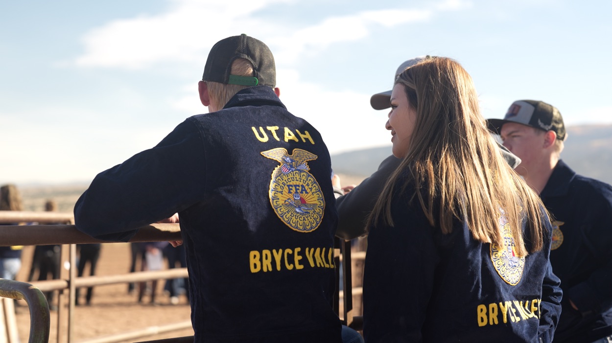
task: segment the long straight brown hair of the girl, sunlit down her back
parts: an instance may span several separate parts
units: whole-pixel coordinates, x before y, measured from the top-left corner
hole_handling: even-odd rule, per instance
[[[408,153],[387,180],[368,227],[381,221],[393,226],[390,204],[395,187],[404,191],[412,183],[417,191],[403,196],[411,196],[411,203],[417,199],[431,226],[439,226],[444,234],[452,232],[453,219],[459,218],[474,239],[503,246],[503,212],[519,256],[528,254],[524,219],[531,231],[531,250],[541,249],[545,209],[499,152],[465,69],[452,59],[432,57],[407,68],[395,84],[404,86],[417,118]],[[400,177],[405,181],[398,185]]]

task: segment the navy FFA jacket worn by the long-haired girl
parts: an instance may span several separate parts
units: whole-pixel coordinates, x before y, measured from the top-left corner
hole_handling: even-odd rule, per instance
[[[409,203],[413,192],[392,199],[394,227],[379,224],[368,235],[365,341],[550,342],[561,311],[550,224],[544,248],[520,258],[504,216],[505,246],[477,242],[458,220],[444,235],[418,201]]]

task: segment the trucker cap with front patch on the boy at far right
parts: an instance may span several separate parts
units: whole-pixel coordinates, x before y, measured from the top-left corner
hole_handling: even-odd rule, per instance
[[[551,130],[557,134],[557,139],[565,141],[565,125],[561,112],[544,101],[514,101],[504,119],[487,119],[489,130],[497,134],[506,123],[523,124],[543,131]]]

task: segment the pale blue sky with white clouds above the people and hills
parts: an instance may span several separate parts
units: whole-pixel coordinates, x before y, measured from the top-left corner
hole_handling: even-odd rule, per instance
[[[610,13],[608,0],[2,1],[0,183],[89,182],[154,146],[207,112],[207,54],[241,33],[270,46],[281,100],[332,154],[390,146],[370,96],[424,54],[468,70],[484,117],[528,98],[566,125],[610,124]]]

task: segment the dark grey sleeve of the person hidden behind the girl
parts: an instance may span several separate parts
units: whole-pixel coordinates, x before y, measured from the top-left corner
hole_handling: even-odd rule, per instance
[[[336,199],[338,210],[338,229],[336,236],[351,240],[366,235],[365,221],[368,218],[378,194],[392,172],[400,165],[401,160],[393,155],[387,157],[370,177],[344,196]]]

